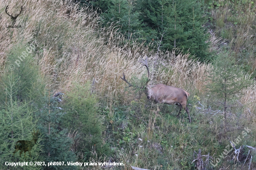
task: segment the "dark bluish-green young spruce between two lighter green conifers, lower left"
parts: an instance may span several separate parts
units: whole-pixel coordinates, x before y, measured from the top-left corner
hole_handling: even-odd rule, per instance
[[[59,98],[46,91],[37,104],[38,128],[43,132],[44,147],[42,157],[50,162],[75,162],[76,155],[71,150],[74,140],[67,136],[68,131],[61,127],[61,117],[65,114],[60,107]],[[77,167],[52,164],[44,169],[74,170]]]

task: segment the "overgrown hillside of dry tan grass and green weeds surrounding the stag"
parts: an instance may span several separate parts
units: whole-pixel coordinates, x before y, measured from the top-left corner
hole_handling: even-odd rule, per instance
[[[15,10],[17,12],[18,7],[23,7],[16,20],[16,25],[21,25],[21,28],[6,27],[11,23],[5,13],[7,5],[12,13]],[[68,94],[75,91],[76,85],[88,85],[89,90],[86,92],[93,93],[97,98],[97,112],[104,126],[101,140],[103,144],[109,144],[111,153],[107,156],[97,155],[94,148],[88,158],[76,150],[77,161],[125,163],[125,166],[109,167],[111,169],[128,170],[132,165],[151,170],[194,170],[192,161],[197,157],[195,151],[201,149],[202,155],[212,157],[210,162],[207,157],[203,157],[207,170],[227,167],[234,170],[241,169],[245,160],[241,158],[241,163],[232,160],[234,150],[221,159],[216,167],[210,163],[216,164],[216,158],[230,144],[229,141],[241,136],[244,128],[248,127],[251,131],[239,146],[256,147],[255,85],[249,86],[244,95],[238,96],[239,100],[228,111],[229,124],[224,127],[223,109],[209,102],[218,96],[210,96],[204,86],[210,83],[206,78],[211,72],[211,64],[191,60],[189,55],[183,55],[182,52],[178,55],[174,51],[149,52],[147,47],[132,40],[124,43],[124,37],[118,33],[115,25],[101,27],[98,13],[90,7],[79,9],[78,5],[60,0],[0,1],[0,21],[4,23],[0,24],[1,85],[3,75],[11,64],[19,69],[15,61],[20,54],[10,58],[13,57],[11,54],[15,47],[27,47],[36,40],[38,46],[30,65],[38,68],[41,78],[38,81],[44,81],[46,91],[67,94],[63,97],[61,107],[69,102]],[[213,35],[209,38],[212,42],[210,50],[220,50],[216,39]],[[146,56],[151,74],[154,74],[152,85],[163,83],[190,93],[188,104],[191,124],[183,111],[180,118],[175,117],[175,106],[154,105],[144,94],[125,88],[127,85],[120,78],[122,72],[125,72],[128,80],[133,78],[136,81],[138,78],[140,81],[146,77],[145,67],[138,62]],[[157,67],[153,70],[156,57]],[[87,97],[90,98],[90,95]],[[215,101],[218,102],[217,99]],[[72,129],[74,131],[79,127]],[[77,144],[75,142],[79,141],[74,139],[73,151]],[[248,150],[244,151],[245,155],[247,153]],[[254,152],[251,155],[256,156]],[[246,163],[248,168],[248,161]],[[256,160],[253,159],[251,166],[255,165]],[[81,169],[86,168],[104,167],[88,166]]]

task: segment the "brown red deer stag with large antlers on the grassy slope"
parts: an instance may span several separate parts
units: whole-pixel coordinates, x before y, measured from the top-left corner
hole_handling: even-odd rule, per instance
[[[147,59],[142,59],[140,61],[144,66],[146,66],[148,70],[148,82],[145,88],[145,94],[149,99],[154,101],[155,103],[164,103],[167,105],[178,105],[180,108],[180,111],[177,115],[177,117],[180,115],[182,108],[185,109],[185,111],[189,115],[189,108],[187,107],[187,100],[189,98],[189,93],[184,91],[183,89],[172,87],[168,85],[163,84],[157,84],[157,85],[148,85],[149,84],[149,69],[148,69],[148,57]],[[123,77],[121,77],[122,80],[124,80],[129,86],[134,86],[130,84],[125,79],[125,74],[123,73]],[[191,123],[191,118],[189,115],[189,122]]]

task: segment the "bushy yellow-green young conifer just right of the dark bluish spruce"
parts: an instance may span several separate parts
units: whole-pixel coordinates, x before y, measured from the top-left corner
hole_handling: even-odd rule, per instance
[[[90,85],[74,83],[74,89],[66,95],[63,107],[66,114],[61,118],[61,124],[78,131],[80,140],[75,151],[82,152],[86,160],[91,156],[91,151],[96,151],[98,155],[109,155],[108,144],[103,143],[104,128],[98,113],[98,100],[91,94]]]

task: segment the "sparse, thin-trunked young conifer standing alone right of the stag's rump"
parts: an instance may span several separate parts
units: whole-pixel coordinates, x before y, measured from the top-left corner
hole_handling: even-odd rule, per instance
[[[234,100],[243,94],[243,89],[251,85],[249,76],[245,76],[235,59],[228,53],[220,54],[213,63],[213,70],[209,72],[211,83],[206,85],[210,95],[216,96],[218,104],[224,110],[224,124],[227,124],[227,111]]]

